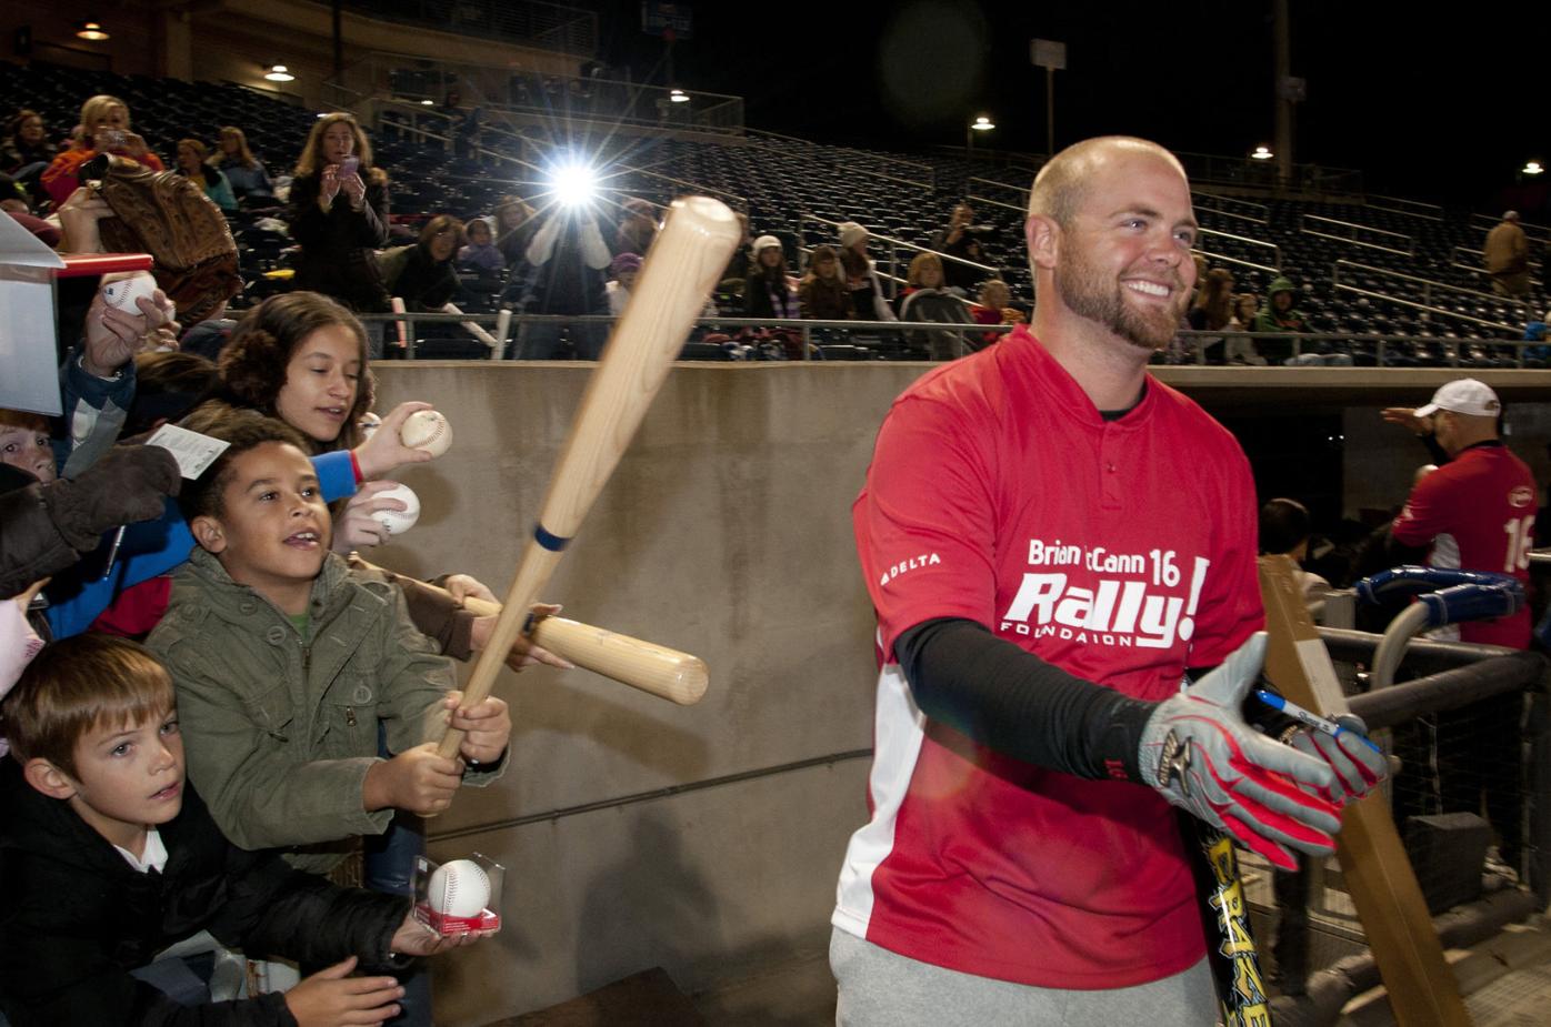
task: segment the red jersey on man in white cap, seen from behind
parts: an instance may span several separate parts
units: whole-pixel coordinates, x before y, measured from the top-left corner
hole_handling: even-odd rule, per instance
[[[1402,545],[1430,545],[1433,567],[1512,575],[1528,592],[1535,479],[1500,441],[1467,446],[1411,489],[1391,534]],[[1529,609],[1495,621],[1464,621],[1459,638],[1528,649]]]

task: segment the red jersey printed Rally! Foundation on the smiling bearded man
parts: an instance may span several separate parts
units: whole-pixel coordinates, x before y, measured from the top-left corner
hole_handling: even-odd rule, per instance
[[[1106,421],[1025,327],[893,404],[853,508],[886,655],[870,823],[833,923],[923,962],[1115,988],[1202,957],[1174,810],[1152,788],[999,756],[917,709],[893,643],[969,618],[1078,677],[1173,696],[1263,624],[1233,437],[1148,378]]]

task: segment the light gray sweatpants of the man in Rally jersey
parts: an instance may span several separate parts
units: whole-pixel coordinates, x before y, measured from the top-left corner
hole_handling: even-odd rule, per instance
[[[1066,991],[945,970],[836,928],[830,936],[830,970],[841,985],[838,1027],[1211,1027],[1218,1022],[1218,998],[1205,959],[1151,984]]]

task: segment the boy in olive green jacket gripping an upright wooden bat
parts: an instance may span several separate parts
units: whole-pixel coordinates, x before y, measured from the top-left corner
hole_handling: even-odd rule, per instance
[[[244,849],[326,872],[396,809],[444,812],[506,765],[512,722],[459,709],[451,660],[399,589],[329,551],[330,517],[293,429],[233,412],[231,443],[180,497],[199,542],[150,634],[178,689],[189,778]],[[378,757],[378,723],[391,757]],[[445,728],[467,731],[444,759]]]

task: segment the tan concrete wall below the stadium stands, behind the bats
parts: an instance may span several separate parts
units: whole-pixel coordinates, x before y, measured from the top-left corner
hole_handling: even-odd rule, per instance
[[[589,367],[377,370],[378,409],[430,400],[456,435],[447,457],[403,474],[425,511],[380,561],[470,572],[503,593]],[[703,990],[822,945],[845,840],[865,818],[856,753],[872,742],[873,623],[850,503],[890,400],[923,370],[673,370],[546,596],[704,657],[710,691],[679,708],[585,671],[503,672],[512,770],[431,823],[431,852],[501,861],[506,926],[437,962],[439,1022],[487,1024],[655,965]],[[1230,369],[1165,378],[1236,417],[1346,410],[1348,510],[1401,502],[1421,459],[1379,407],[1421,403],[1452,376],[1214,370]],[[1511,398],[1515,448],[1542,472],[1548,376],[1518,372]],[[678,790],[651,795],[662,788]]]

